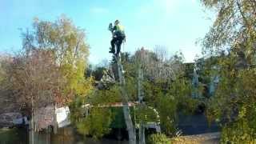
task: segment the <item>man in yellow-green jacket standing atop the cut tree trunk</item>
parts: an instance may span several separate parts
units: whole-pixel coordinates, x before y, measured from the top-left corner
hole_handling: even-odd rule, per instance
[[[109,30],[113,34],[113,38],[111,40],[110,53],[113,53],[113,54],[115,53],[114,46],[116,45],[117,46],[117,53],[116,53],[116,55],[118,55],[120,50],[121,50],[122,42],[126,38],[124,27],[120,24],[120,22],[118,20],[116,20],[114,22],[114,27],[112,27],[112,23],[110,23]]]

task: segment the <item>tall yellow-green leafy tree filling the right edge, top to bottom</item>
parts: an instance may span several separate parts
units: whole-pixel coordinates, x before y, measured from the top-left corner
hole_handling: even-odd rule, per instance
[[[206,54],[221,56],[221,82],[207,110],[222,123],[222,142],[254,143],[256,2],[202,0],[218,13],[203,41]],[[229,132],[228,132],[229,131]],[[230,131],[232,131],[230,133]]]

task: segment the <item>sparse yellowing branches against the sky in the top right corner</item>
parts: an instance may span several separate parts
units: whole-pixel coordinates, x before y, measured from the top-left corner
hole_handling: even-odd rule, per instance
[[[252,56],[254,54],[252,38],[255,38],[256,22],[255,2],[249,0],[201,1],[206,8],[218,13],[213,26],[203,40],[205,52],[219,54],[222,50],[229,49],[229,46],[233,49],[234,46],[242,44],[242,47],[246,45],[246,50],[250,50],[250,56]],[[244,42],[241,43],[242,41]]]

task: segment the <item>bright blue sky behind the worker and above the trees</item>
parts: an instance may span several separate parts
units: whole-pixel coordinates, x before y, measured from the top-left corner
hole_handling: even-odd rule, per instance
[[[31,28],[34,17],[54,21],[61,14],[86,30],[90,62],[110,59],[108,24],[119,19],[126,29],[125,51],[166,46],[169,54],[181,50],[187,62],[201,54],[196,46],[210,29],[214,14],[199,0],[0,0],[0,52],[20,50],[19,28]]]

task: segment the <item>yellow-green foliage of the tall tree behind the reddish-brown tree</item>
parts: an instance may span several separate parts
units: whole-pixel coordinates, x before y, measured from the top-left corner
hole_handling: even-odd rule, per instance
[[[33,31],[23,35],[23,48],[30,52],[33,48],[53,52],[55,64],[58,65],[58,102],[68,103],[74,95],[90,93],[91,78],[84,77],[89,46],[84,30],[74,26],[73,22],[62,16],[55,22],[34,19]]]

